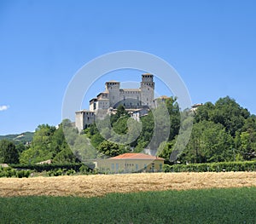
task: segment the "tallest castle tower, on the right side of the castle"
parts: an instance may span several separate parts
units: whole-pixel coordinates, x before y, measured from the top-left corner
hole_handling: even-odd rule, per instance
[[[141,82],[141,101],[142,106],[153,106],[154,101],[154,80],[153,75],[143,74]]]

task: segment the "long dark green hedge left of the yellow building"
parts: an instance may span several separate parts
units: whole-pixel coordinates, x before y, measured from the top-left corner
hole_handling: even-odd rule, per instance
[[[84,164],[12,164],[11,167],[15,169],[31,169],[38,172],[55,170],[55,169],[73,169],[75,172],[79,172],[79,169]],[[87,167],[88,171],[90,170]]]

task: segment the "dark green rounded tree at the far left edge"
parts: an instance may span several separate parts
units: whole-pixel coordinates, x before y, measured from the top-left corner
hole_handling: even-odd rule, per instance
[[[0,141],[0,163],[19,164],[19,152],[12,141]]]

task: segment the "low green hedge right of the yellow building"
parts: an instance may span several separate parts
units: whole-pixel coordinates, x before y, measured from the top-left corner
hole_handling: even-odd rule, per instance
[[[211,164],[164,164],[163,170],[164,172],[256,171],[256,161]]]

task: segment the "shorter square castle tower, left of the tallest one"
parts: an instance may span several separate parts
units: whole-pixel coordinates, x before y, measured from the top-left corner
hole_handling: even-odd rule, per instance
[[[108,93],[109,106],[113,107],[120,101],[120,83],[110,81],[105,83],[106,92]]]

